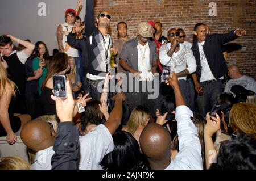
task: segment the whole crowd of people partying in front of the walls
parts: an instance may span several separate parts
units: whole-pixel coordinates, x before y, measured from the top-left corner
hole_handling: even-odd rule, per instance
[[[52,56],[43,41],[0,36],[0,136],[20,136],[32,155],[0,157],[0,169],[256,169],[256,82],[227,66],[223,49],[243,28],[197,23],[189,43],[181,27],[165,37],[149,20],[130,38],[119,22],[113,41],[109,12],[95,20],[86,1],[82,22],[81,3],[65,11]],[[53,94],[56,74],[65,99]]]

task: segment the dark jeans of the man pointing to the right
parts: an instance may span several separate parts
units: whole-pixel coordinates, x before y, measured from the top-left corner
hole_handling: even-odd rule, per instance
[[[214,104],[216,104],[218,96],[222,92],[222,82],[200,82],[203,86],[203,95],[197,95],[196,103],[199,113],[205,117],[206,113],[210,111]]]

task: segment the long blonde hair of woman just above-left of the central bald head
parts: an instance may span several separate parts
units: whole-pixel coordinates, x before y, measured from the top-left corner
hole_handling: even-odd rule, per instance
[[[136,106],[131,112],[131,116],[122,130],[131,133],[139,143],[141,132],[144,127],[146,127],[149,120],[150,111],[144,106]]]

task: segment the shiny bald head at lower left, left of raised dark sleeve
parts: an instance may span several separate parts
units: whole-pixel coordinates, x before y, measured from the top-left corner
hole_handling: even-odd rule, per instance
[[[53,146],[55,134],[46,121],[33,120],[24,125],[20,137],[28,148],[38,152]]]

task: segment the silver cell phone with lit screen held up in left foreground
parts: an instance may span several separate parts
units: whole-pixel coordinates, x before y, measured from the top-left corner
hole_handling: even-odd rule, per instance
[[[65,75],[52,75],[54,95],[58,98],[67,98]]]

